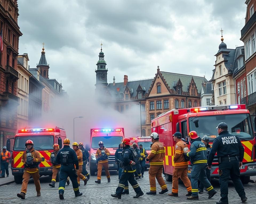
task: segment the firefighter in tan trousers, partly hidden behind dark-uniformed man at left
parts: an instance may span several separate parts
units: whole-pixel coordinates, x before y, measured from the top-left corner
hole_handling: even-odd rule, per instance
[[[53,164],[53,175],[51,177],[51,183],[49,184],[49,186],[51,186],[53,188],[55,187],[57,173],[59,173],[59,170],[61,168],[61,165],[57,164],[56,161],[55,161],[58,152],[59,152],[59,145],[54,144],[53,145],[53,152],[51,153],[51,158],[50,158],[50,162]],[[69,179],[67,179],[67,185],[69,185],[69,184],[70,184],[70,181],[69,181]]]

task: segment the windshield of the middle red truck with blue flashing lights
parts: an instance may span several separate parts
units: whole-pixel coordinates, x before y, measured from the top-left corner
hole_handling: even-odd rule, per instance
[[[104,143],[106,148],[118,148],[118,145],[122,141],[122,137],[119,136],[106,136],[106,137],[92,137],[91,148],[99,148],[99,141]]]

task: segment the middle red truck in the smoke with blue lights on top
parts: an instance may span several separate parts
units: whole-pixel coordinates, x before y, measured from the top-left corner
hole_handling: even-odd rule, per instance
[[[94,176],[97,171],[96,165],[96,151],[99,148],[99,141],[104,143],[104,146],[109,150],[109,170],[118,170],[118,166],[115,163],[115,151],[118,149],[118,145],[124,138],[124,128],[109,128],[109,129],[91,129],[91,141],[90,146],[86,145],[86,150],[90,153],[89,165],[90,175]]]

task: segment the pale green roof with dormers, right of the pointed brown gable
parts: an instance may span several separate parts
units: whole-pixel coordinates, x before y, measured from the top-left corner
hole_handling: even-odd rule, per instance
[[[186,75],[186,74],[176,74],[176,73],[170,73],[165,71],[160,71],[163,78],[165,79],[166,83],[169,85],[170,89],[175,90],[173,86],[174,82],[178,82],[178,80],[181,80],[182,83],[182,91],[187,91],[189,88],[189,84],[191,82],[191,79],[193,77],[195,85],[197,86],[198,93],[201,93],[202,90],[202,82],[207,82],[207,79],[204,77],[197,77],[192,75]]]

